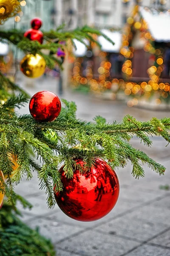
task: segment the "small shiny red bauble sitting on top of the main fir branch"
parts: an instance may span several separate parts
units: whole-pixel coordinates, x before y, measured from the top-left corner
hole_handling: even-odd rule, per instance
[[[55,93],[40,91],[31,98],[29,111],[35,120],[51,122],[59,116],[61,102]]]

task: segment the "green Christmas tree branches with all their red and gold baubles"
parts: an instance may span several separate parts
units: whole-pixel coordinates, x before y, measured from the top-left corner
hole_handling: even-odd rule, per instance
[[[0,0],[0,23],[19,11],[20,1]],[[61,26],[42,33],[38,32],[40,23],[40,19],[33,20],[32,29],[28,32],[0,30],[1,42],[6,40],[25,52],[21,71],[31,78],[42,75],[45,66],[53,68],[56,62],[62,68],[62,60],[54,55],[58,50],[65,52],[70,44],[74,47],[73,39],[83,44],[84,39],[88,39],[99,45],[93,35],[102,35],[88,26],[74,31],[65,31]],[[44,49],[50,53],[44,54]],[[71,218],[93,221],[110,212],[118,199],[119,181],[113,169],[123,168],[130,161],[135,178],[144,177],[144,163],[159,175],[164,175],[164,166],[133,148],[129,141],[136,136],[144,145],[151,146],[150,136],[161,136],[169,143],[170,118],[139,122],[128,115],[121,123],[114,121],[108,124],[105,118],[96,116],[94,122],[86,122],[77,119],[74,102],[62,100],[64,107],[61,108],[59,98],[48,91],[37,92],[30,100],[30,96],[2,72],[0,100],[2,256],[55,255],[49,241],[16,216],[19,213],[17,201],[23,207],[31,207],[14,192],[14,186],[22,182],[23,176],[31,182],[33,172],[37,172],[40,189],[44,189],[47,195],[48,207],[53,208],[57,201],[62,211]],[[29,100],[31,115],[18,116],[14,109]],[[38,159],[41,159],[41,164]],[[61,164],[63,166],[59,169]],[[86,195],[90,198],[88,202]]]

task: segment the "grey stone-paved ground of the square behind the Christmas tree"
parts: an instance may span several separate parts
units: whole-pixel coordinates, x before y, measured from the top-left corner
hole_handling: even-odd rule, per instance
[[[31,95],[39,90],[57,93],[55,79],[34,80],[34,85],[20,80],[20,84]],[[108,122],[121,121],[127,113],[139,120],[169,116],[169,112],[127,108],[122,102],[102,101],[69,91],[62,97],[75,101],[77,116],[90,121],[95,115],[104,116]],[[20,113],[28,113],[28,106]],[[131,143],[164,164],[167,172],[160,177],[145,166],[146,176],[136,180],[131,175],[130,164],[116,170],[119,200],[112,212],[99,221],[78,222],[67,217],[59,207],[48,209],[36,175],[31,182],[24,180],[16,187],[16,192],[34,205],[31,211],[18,205],[23,221],[32,228],[39,226],[40,233],[53,241],[58,256],[170,256],[170,191],[160,189],[161,185],[170,185],[170,146],[165,147],[167,143],[157,137],[153,137],[152,148],[146,148],[135,138]]]

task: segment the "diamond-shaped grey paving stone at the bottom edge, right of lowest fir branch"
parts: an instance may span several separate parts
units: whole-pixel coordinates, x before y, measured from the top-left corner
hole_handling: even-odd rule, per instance
[[[139,245],[136,241],[101,234],[93,230],[79,234],[58,244],[82,256],[120,256]]]

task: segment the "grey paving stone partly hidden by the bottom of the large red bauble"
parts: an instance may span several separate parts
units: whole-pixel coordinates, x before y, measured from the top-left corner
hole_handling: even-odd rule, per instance
[[[133,207],[136,207],[136,204],[134,202],[126,202],[121,200],[118,200],[116,206],[113,208],[113,210],[106,215],[104,218],[98,220],[98,221],[91,221],[91,222],[82,222],[82,221],[75,221],[72,218],[69,218],[67,215],[65,215],[61,210],[57,211],[57,213],[54,213],[50,216],[48,216],[48,219],[53,220],[53,221],[61,221],[63,223],[68,223],[74,226],[79,226],[79,227],[94,227],[96,225],[102,224],[103,221],[107,221],[108,219],[114,219],[116,216],[127,212],[129,209],[133,209]]]

